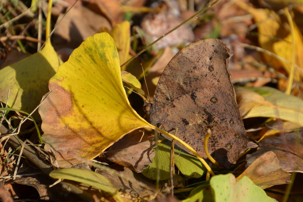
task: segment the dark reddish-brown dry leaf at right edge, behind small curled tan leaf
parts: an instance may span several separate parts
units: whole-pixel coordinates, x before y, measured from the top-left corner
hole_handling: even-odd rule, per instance
[[[303,131],[280,133],[278,137],[270,137],[260,142],[255,153],[246,157],[247,165],[251,165],[262,154],[272,151],[278,157],[279,165],[286,172],[303,173]]]

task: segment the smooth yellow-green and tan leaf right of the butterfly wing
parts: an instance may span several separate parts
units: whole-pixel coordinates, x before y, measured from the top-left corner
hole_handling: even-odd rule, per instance
[[[295,96],[271,88],[236,87],[239,111],[243,119],[250,117],[272,117],[298,123],[303,126],[303,101]]]

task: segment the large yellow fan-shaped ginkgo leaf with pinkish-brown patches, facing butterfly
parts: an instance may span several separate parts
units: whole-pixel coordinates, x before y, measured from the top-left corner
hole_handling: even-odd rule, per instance
[[[154,128],[130,106],[115,42],[108,33],[88,37],[49,81],[39,108],[45,149],[58,167],[98,156],[125,134]]]

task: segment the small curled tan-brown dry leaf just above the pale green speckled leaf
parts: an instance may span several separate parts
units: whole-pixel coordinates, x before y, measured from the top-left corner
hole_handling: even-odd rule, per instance
[[[244,176],[249,177],[263,189],[272,185],[290,183],[290,174],[279,166],[279,160],[272,151],[258,157],[236,180]]]

